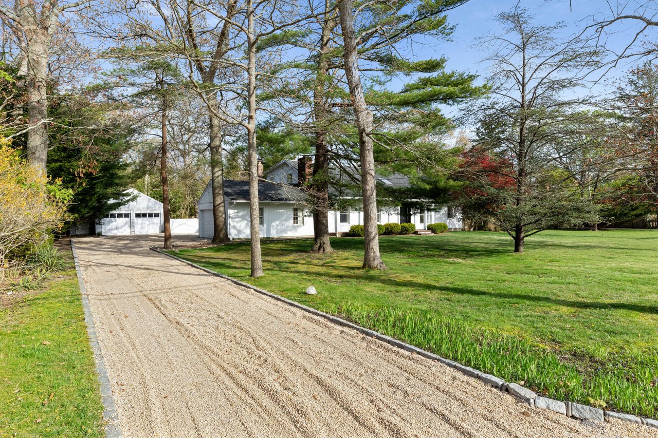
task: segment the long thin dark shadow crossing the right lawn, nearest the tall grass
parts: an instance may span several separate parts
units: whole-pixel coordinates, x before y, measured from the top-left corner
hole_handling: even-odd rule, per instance
[[[274,268],[274,270],[278,270],[280,272],[286,272],[286,273],[297,273],[297,274],[302,274],[302,275],[308,275],[309,272],[301,271],[301,270],[292,270],[292,269],[277,269]],[[580,309],[587,309],[587,310],[631,310],[633,312],[641,312],[641,313],[646,313],[646,314],[658,314],[658,303],[655,303],[654,305],[642,305],[642,304],[632,304],[632,303],[599,303],[597,301],[572,301],[572,300],[567,300],[567,299],[561,299],[561,298],[551,298],[551,297],[545,297],[542,295],[530,295],[530,294],[524,294],[524,293],[513,293],[513,292],[488,292],[488,291],[481,291],[478,289],[470,289],[468,287],[454,287],[454,286],[443,286],[443,285],[436,285],[432,283],[421,283],[418,281],[397,281],[392,278],[386,278],[382,276],[359,276],[359,275],[353,275],[353,274],[342,274],[342,273],[333,273],[333,272],[322,272],[321,274],[317,274],[319,278],[322,277],[330,277],[330,278],[338,278],[338,279],[349,279],[349,280],[361,280],[361,281],[373,281],[377,283],[381,283],[382,285],[385,286],[391,286],[391,287],[408,287],[410,289],[424,289],[424,290],[438,290],[438,291],[443,291],[447,293],[453,293],[457,295],[472,295],[472,296],[479,296],[479,297],[492,297],[496,299],[504,299],[504,300],[522,300],[522,301],[527,301],[528,303],[549,303],[549,304],[555,304],[558,306],[567,306],[567,307],[573,307],[573,308],[580,308]],[[248,280],[247,280],[248,281]]]

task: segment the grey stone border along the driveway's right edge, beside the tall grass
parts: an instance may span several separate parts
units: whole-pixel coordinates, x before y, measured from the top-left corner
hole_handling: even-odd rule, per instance
[[[418,347],[414,347],[413,345],[409,345],[405,342],[398,341],[397,339],[393,339],[390,336],[382,335],[377,331],[363,328],[361,326],[357,326],[357,324],[353,324],[349,321],[345,321],[342,318],[337,318],[336,316],[332,316],[328,313],[320,312],[320,310],[315,310],[315,308],[311,308],[309,306],[299,304],[295,301],[291,301],[287,298],[281,297],[280,295],[276,295],[264,289],[260,289],[259,287],[250,285],[249,283],[245,283],[244,281],[236,280],[235,278],[225,276],[224,274],[219,274],[218,272],[215,272],[208,268],[204,268],[203,266],[199,266],[198,264],[195,264],[188,260],[184,260],[183,258],[177,257],[169,253],[165,253],[164,251],[161,251],[161,249],[159,248],[151,247],[151,250],[155,251],[156,253],[161,253],[168,257],[174,258],[175,260],[178,260],[180,262],[189,264],[190,266],[205,271],[208,274],[212,274],[213,276],[217,276],[223,278],[224,280],[231,281],[236,285],[246,287],[247,289],[251,289],[252,291],[256,291],[263,295],[267,295],[268,297],[273,298],[277,301],[282,301],[283,303],[290,304],[291,306],[304,310],[305,312],[309,312],[316,316],[320,316],[320,318],[324,318],[326,320],[334,322],[334,324],[338,324],[339,326],[355,329],[356,331],[358,331],[363,335],[367,335],[369,337],[373,337],[374,339],[378,339],[379,341],[386,342],[389,345],[392,345],[393,347],[397,347],[399,349],[409,351],[410,353],[416,353],[424,358],[441,362],[442,364],[447,365],[450,368],[454,368],[455,370],[461,372],[462,374],[465,374],[466,376],[475,377],[476,379],[482,381],[483,383],[486,383],[487,385],[491,385],[497,389],[500,389],[501,391],[507,391],[508,393],[519,399],[520,401],[526,402],[531,407],[552,410],[553,412],[557,412],[558,414],[563,414],[565,416],[576,418],[578,420],[603,422],[605,421],[605,418],[615,418],[617,420],[623,420],[635,424],[644,424],[645,426],[658,428],[658,420],[652,420],[651,418],[642,418],[630,414],[620,414],[619,412],[612,412],[607,410],[604,411],[603,409],[594,408],[593,406],[587,406],[585,404],[579,404],[569,401],[563,402],[559,400],[549,399],[547,397],[542,397],[540,395],[537,395],[533,391],[530,391],[530,389],[518,385],[517,383],[508,383],[503,379],[500,379],[499,377],[492,376],[491,374],[483,373],[480,370],[475,370],[474,368],[470,368],[469,366],[464,366],[453,360],[449,360],[443,358],[442,356],[438,356],[438,354],[424,351],[423,349],[419,349]]]

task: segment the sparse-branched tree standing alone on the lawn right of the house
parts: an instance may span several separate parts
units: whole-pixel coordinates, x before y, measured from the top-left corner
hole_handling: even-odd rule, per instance
[[[476,147],[505,163],[502,176],[511,181],[495,187],[490,178],[479,193],[490,198],[484,210],[514,239],[515,253],[522,253],[526,237],[561,224],[592,224],[598,220],[594,206],[571,186],[571,176],[556,175],[555,167],[574,147],[565,146],[578,116],[590,99],[567,97],[582,86],[597,66],[595,51],[582,39],[559,41],[561,24],[532,23],[525,9],[498,16],[503,34],[484,38],[493,52],[494,87],[476,107]]]

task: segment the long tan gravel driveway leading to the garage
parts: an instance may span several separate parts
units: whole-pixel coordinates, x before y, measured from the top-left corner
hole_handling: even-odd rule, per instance
[[[76,239],[125,437],[658,436],[529,408],[149,245]]]

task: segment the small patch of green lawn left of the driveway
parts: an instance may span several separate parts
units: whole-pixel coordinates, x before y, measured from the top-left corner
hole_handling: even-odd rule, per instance
[[[103,406],[74,270],[0,308],[0,437],[102,437]]]

